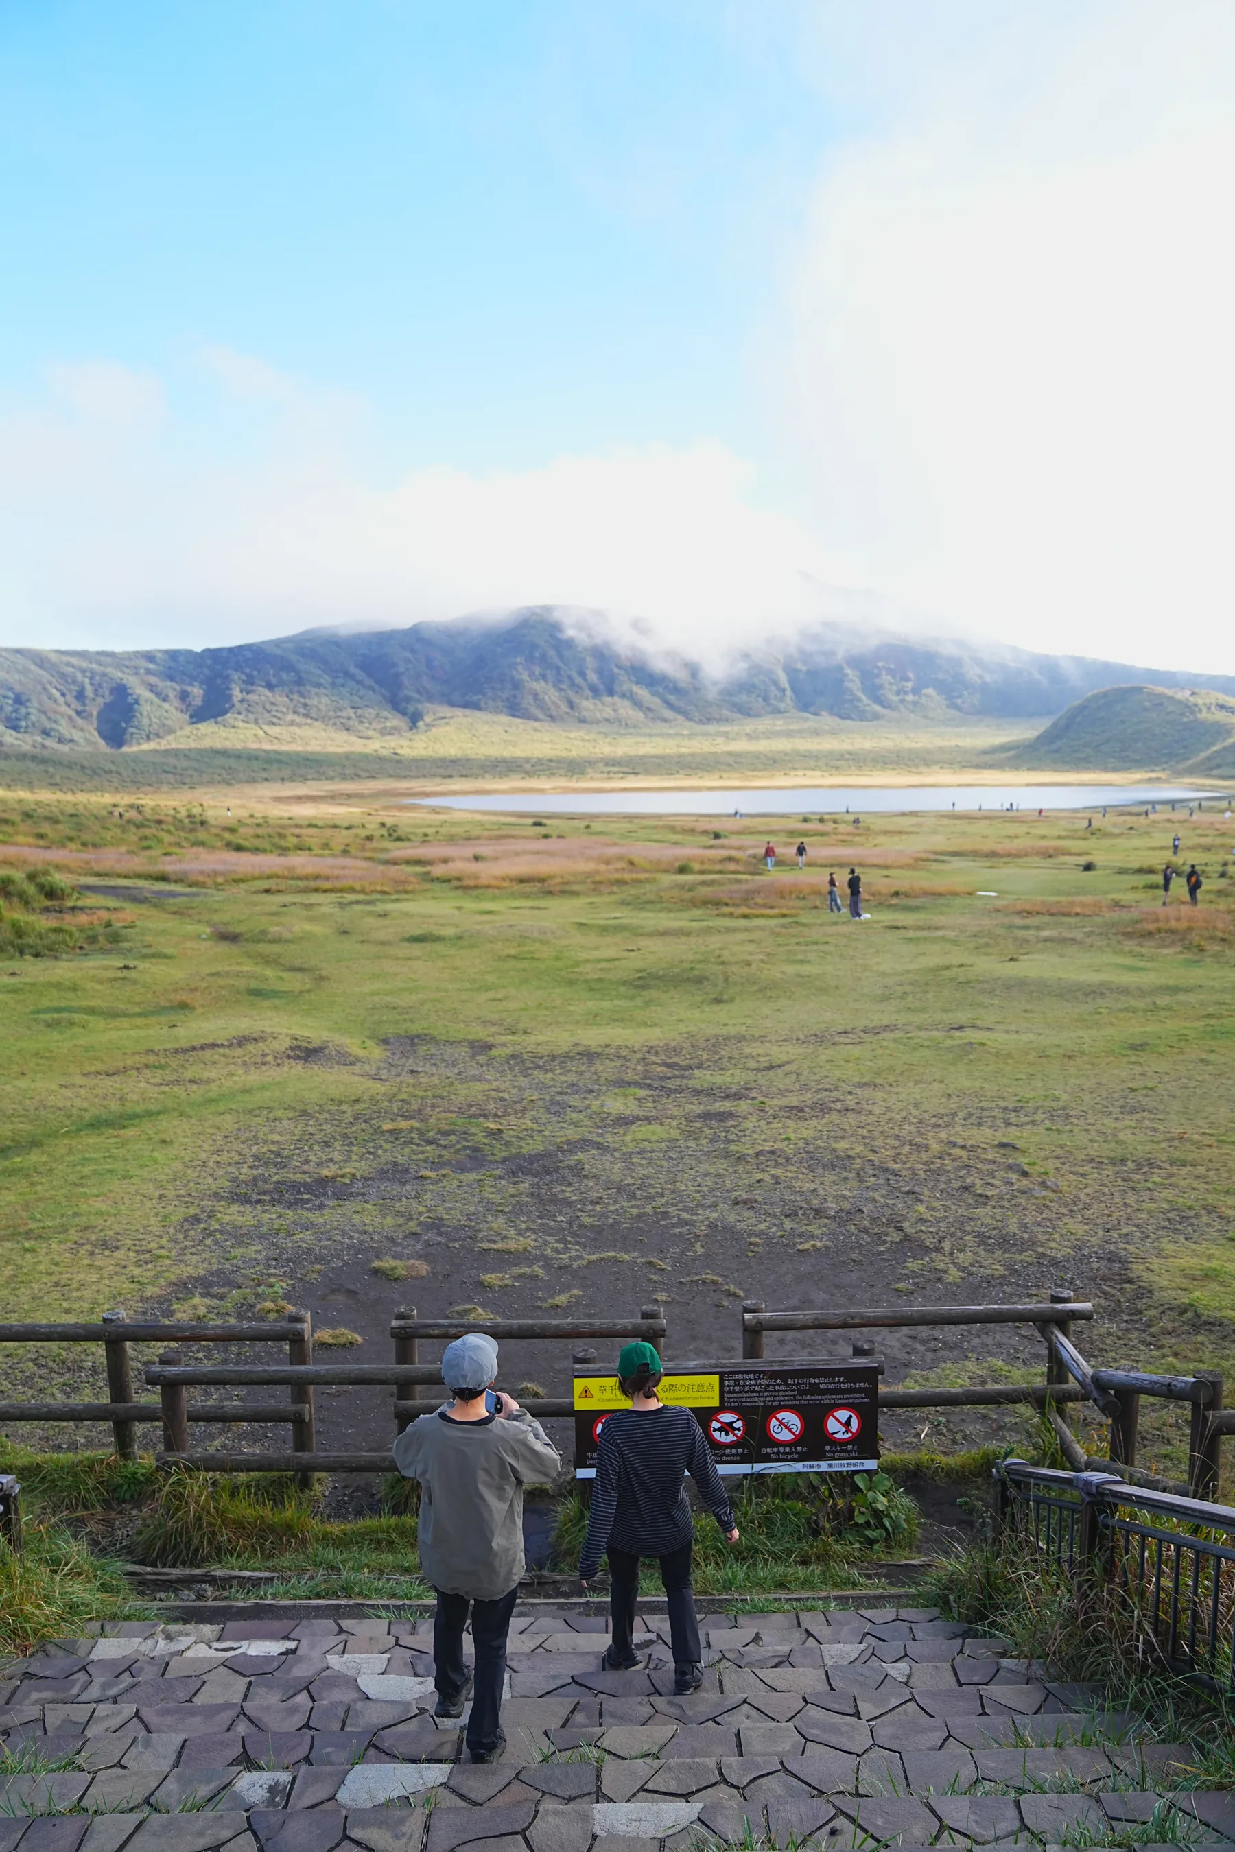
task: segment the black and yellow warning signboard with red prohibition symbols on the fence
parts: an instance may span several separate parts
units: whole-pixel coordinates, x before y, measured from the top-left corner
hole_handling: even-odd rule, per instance
[[[593,1365],[594,1369],[594,1365]],[[870,1363],[667,1369],[661,1400],[689,1408],[718,1472],[872,1472],[879,1372]],[[630,1408],[617,1376],[574,1378],[574,1472],[596,1476],[605,1417]]]

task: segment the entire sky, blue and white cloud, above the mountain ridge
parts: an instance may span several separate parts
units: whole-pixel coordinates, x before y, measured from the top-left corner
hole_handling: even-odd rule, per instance
[[[1228,0],[0,7],[0,643],[1235,672]]]

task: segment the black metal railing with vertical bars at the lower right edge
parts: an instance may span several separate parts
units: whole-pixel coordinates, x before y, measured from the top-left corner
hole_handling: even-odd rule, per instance
[[[1004,1520],[1111,1604],[1137,1658],[1235,1696],[1235,1508],[1024,1459],[998,1480]]]

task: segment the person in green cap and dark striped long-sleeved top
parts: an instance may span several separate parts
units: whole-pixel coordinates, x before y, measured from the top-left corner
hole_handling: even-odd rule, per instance
[[[618,1385],[630,1408],[605,1417],[593,1482],[587,1539],[580,1552],[583,1587],[609,1556],[609,1613],[613,1637],[604,1663],[615,1671],[639,1665],[635,1600],[639,1558],[654,1556],[668,1596],[668,1635],[674,1654],[674,1693],[685,1696],[704,1682],[691,1556],[694,1520],[685,1495],[689,1472],[717,1519],[726,1543],[737,1543],[737,1524],[724,1496],[704,1430],[689,1408],[667,1408],[657,1391],[661,1359],[652,1345],[626,1345],[618,1356]]]

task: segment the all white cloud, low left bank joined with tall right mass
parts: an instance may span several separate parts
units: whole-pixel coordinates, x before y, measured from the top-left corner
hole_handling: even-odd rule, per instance
[[[863,128],[787,254],[761,470],[602,432],[537,469],[391,482],[363,406],[263,357],[206,348],[167,393],[59,365],[0,420],[0,641],[552,602],[717,657],[872,585],[937,630],[1235,672],[1235,13],[804,13],[831,22],[804,57]]]

